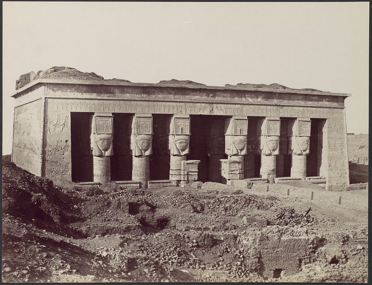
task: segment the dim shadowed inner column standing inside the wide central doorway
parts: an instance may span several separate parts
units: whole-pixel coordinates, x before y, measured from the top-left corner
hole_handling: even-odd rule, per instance
[[[222,182],[220,160],[225,157],[225,120],[212,121],[207,135],[208,181]]]

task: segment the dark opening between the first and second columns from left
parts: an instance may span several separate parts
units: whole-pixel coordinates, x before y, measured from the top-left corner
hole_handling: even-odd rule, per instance
[[[132,180],[131,117],[129,113],[113,113],[111,180]]]

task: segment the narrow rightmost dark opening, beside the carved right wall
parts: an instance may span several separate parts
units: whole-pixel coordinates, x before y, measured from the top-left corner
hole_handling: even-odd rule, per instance
[[[310,153],[306,158],[306,176],[318,176],[318,132],[319,120],[311,118],[310,127]]]

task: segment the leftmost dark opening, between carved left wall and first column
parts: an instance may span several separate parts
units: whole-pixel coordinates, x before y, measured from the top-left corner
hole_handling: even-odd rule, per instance
[[[90,148],[90,118],[94,113],[71,112],[71,180],[93,181],[93,154]]]

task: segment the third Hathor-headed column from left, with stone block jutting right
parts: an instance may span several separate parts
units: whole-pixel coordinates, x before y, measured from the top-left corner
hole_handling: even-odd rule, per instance
[[[169,179],[186,181],[198,179],[198,163],[200,160],[186,160],[190,153],[190,115],[173,115],[168,120],[170,170]]]

